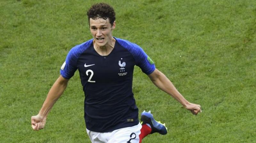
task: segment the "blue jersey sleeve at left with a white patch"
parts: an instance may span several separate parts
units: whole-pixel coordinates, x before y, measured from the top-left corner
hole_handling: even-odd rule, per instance
[[[77,70],[78,55],[76,54],[76,47],[68,52],[65,62],[60,68],[60,74],[65,79],[70,79]]]

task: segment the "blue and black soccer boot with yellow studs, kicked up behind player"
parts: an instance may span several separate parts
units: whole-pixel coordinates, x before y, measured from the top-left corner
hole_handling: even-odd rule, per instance
[[[146,112],[145,110],[141,113],[140,117],[140,123],[143,124],[149,124],[152,131],[150,134],[154,132],[158,132],[162,135],[167,134],[167,128],[165,127],[165,124],[162,124],[161,122],[157,122],[153,115],[151,114],[151,111]]]

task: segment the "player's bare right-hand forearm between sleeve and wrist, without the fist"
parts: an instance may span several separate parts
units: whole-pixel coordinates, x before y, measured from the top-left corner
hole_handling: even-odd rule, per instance
[[[151,79],[151,78],[150,78]],[[172,82],[160,71],[157,72],[156,78],[151,79],[156,87],[160,88],[167,94],[170,94],[174,99],[180,102],[184,107],[189,103],[180,92],[174,87]]]

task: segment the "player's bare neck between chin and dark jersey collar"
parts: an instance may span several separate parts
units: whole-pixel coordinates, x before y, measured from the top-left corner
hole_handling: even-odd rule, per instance
[[[114,49],[115,43],[116,43],[116,39],[112,37],[111,41],[108,41],[108,43],[104,46],[99,46],[96,44],[95,41],[93,41],[93,47],[99,55],[107,56]]]

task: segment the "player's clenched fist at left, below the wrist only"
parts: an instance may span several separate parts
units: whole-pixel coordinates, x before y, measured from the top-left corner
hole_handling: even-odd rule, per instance
[[[44,129],[46,123],[46,117],[42,115],[36,115],[31,117],[31,127],[35,131],[39,131],[40,129]]]

